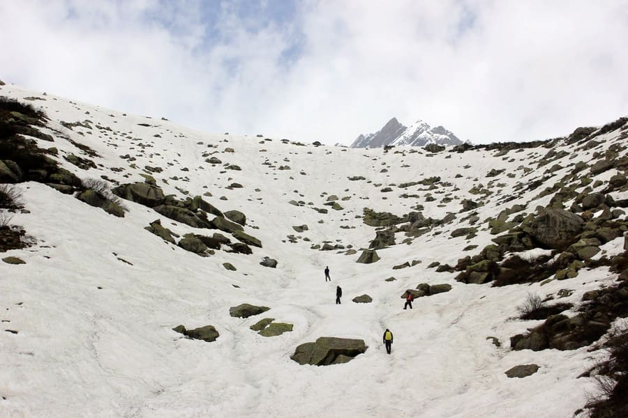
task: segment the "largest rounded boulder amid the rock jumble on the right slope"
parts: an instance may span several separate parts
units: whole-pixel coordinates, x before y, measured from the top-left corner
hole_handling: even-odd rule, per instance
[[[564,249],[581,233],[582,217],[563,209],[546,208],[528,222],[523,231],[548,248]]]

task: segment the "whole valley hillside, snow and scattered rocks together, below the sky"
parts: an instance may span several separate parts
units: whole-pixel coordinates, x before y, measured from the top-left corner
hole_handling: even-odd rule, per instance
[[[625,415],[628,118],[357,150],[0,96],[0,416]]]

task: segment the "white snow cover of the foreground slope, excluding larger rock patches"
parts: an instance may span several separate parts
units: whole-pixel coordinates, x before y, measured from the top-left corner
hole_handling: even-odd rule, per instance
[[[0,263],[0,320],[17,332],[0,333],[0,416],[571,417],[595,390],[592,379],[578,376],[604,359],[603,351],[513,350],[509,339],[544,322],[518,319],[528,293],[558,299],[569,290],[560,302],[574,304],[566,314],[576,316],[586,292],[617,282],[607,265],[583,268],[570,279],[501,287],[465,284],[456,281],[460,270],[428,266],[475,256],[501,236],[491,233],[490,219],[515,205],[525,209],[507,221],[534,214],[551,204],[557,185],[575,187],[566,208],[581,204],[578,194],[606,191],[613,176],[625,176],[625,166],[588,170],[604,155],[626,157],[625,122],[585,145],[567,138],[530,148],[382,152],[204,134],[10,85],[0,86],[0,95],[45,111],[50,121],[39,130],[54,141],[33,140],[57,148],[49,157],[79,178],[105,176],[115,187],[153,176],[179,201],[202,196],[222,211],[244,212],[244,231],[262,242],[251,246],[253,254],[223,246],[202,257],[144,227],[160,219],[180,238],[216,230],[131,201],[124,202],[124,217],[115,217],[42,183],[17,183],[27,212],[15,212],[11,224],[34,243],[2,254],[25,264]],[[83,126],[69,125],[78,122]],[[80,169],[64,159],[70,154],[96,167]],[[211,157],[220,163],[207,162]],[[577,163],[588,167],[588,180],[562,180]],[[234,165],[241,170],[227,168]],[[424,181],[435,175],[440,180]],[[411,182],[424,183],[402,184]],[[551,192],[544,194],[546,188]],[[625,187],[608,194],[628,198]],[[340,209],[324,205],[331,195]],[[461,212],[465,199],[479,206]],[[375,238],[364,208],[400,217],[420,211],[434,222],[418,236],[396,231],[396,245],[377,249],[380,261],[356,263]],[[455,218],[445,219],[448,214]],[[479,219],[473,224],[472,214]],[[625,214],[616,215],[613,222],[625,222]],[[592,210],[593,219],[601,216],[604,210]],[[292,228],[304,224],[306,231]],[[452,237],[460,228],[477,231]],[[325,242],[340,247],[321,251]],[[624,242],[623,235],[609,240],[596,257],[622,253]],[[264,256],[275,258],[277,268],[260,265]],[[420,263],[394,269],[406,261]],[[326,265],[331,283],[324,281]],[[414,309],[403,311],[400,296],[420,283],[452,288],[418,297]],[[336,285],[343,288],[341,305],[334,304]],[[372,303],[351,302],[364,293]],[[271,309],[231,317],[230,307],[245,302]],[[292,323],[293,331],[260,336],[249,327],[261,318]],[[211,324],[220,336],[211,343],[185,339],[172,331],[179,324]],[[381,343],[386,327],[395,336],[390,356]],[[368,349],[331,366],[290,359],[299,344],[320,336],[364,339]],[[532,376],[504,374],[530,363],[539,366]]]

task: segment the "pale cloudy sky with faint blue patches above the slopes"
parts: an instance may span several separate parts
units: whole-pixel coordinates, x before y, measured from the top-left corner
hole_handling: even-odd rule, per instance
[[[625,0],[4,0],[0,79],[212,133],[474,143],[628,116]]]

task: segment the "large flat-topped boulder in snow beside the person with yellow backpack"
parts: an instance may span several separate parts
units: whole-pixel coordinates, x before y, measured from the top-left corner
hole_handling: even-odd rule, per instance
[[[304,343],[298,346],[290,358],[299,364],[328,366],[345,363],[350,358],[366,352],[366,348],[368,347],[361,339],[322,336],[315,343]]]

